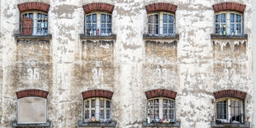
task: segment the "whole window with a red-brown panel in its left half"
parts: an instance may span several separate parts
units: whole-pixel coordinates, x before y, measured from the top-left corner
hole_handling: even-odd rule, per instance
[[[48,15],[45,12],[21,13],[21,35],[46,36],[48,34]]]

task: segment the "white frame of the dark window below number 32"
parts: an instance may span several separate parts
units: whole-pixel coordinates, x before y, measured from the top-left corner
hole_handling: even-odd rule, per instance
[[[226,113],[223,113],[222,115],[225,115],[225,119],[219,119],[218,118],[218,107],[217,107],[217,102],[224,102],[225,101],[225,109]],[[231,102],[239,102],[242,106],[240,109],[238,109],[240,117],[235,116],[235,114],[231,113]],[[233,106],[234,109],[234,106]],[[240,112],[239,112],[240,111]],[[236,119],[240,119],[241,122],[235,121]],[[232,121],[233,120],[233,121]],[[224,98],[219,98],[216,100],[216,122],[219,124],[243,124],[244,123],[244,100],[238,99],[238,98],[233,98],[233,97],[224,97]]]

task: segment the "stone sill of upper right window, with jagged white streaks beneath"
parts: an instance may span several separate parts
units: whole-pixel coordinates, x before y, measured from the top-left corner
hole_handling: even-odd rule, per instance
[[[248,35],[244,34],[243,36],[220,36],[217,34],[211,34],[211,40],[247,40]]]

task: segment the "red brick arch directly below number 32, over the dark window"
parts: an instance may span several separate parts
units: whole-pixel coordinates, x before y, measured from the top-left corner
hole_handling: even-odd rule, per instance
[[[241,92],[237,90],[221,90],[218,92],[214,92],[214,97],[216,99],[221,98],[221,97],[235,97],[244,100],[246,97],[246,92]]]

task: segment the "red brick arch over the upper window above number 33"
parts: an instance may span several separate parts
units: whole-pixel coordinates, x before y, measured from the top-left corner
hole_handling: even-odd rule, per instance
[[[148,13],[159,12],[159,11],[175,13],[177,10],[176,5],[173,5],[170,3],[164,3],[164,2],[152,3],[149,5],[146,5],[145,7]]]

